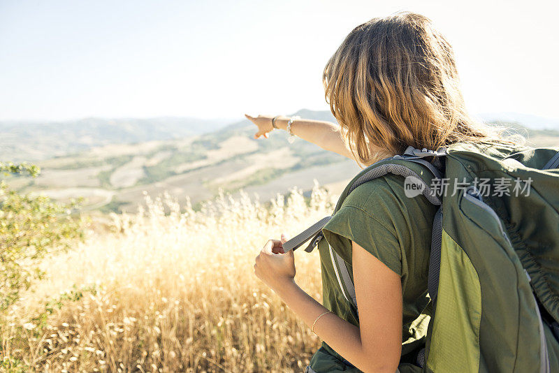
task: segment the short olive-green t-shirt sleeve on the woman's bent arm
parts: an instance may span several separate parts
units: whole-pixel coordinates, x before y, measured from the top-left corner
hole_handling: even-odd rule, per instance
[[[332,249],[347,263],[351,263],[351,241],[354,241],[402,276],[400,242],[393,227],[393,219],[387,216],[399,207],[391,206],[390,198],[378,197],[379,190],[371,182],[358,186],[344,200],[340,210],[328,221],[322,232]]]

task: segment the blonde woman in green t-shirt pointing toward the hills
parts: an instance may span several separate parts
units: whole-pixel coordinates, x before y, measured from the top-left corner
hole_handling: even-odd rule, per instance
[[[356,27],[324,68],[326,101],[339,122],[295,119],[291,132],[361,166],[406,147],[437,149],[453,142],[502,141],[465,109],[453,51],[427,17],[396,13]],[[289,117],[250,117],[267,138]],[[324,306],[295,281],[293,252],[269,240],[256,276],[323,339],[309,372],[412,370],[426,335],[430,233],[436,208],[407,198],[403,177],[358,186],[324,237],[351,264],[358,314],[340,294],[324,244],[320,247]],[[324,240],[323,240],[324,241]],[[326,248],[328,247],[326,244]]]

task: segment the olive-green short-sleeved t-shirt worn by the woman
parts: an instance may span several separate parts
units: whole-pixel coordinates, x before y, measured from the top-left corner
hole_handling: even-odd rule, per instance
[[[402,279],[402,356],[422,343],[427,333],[430,299],[427,293],[433,218],[437,206],[423,195],[408,198],[404,177],[386,175],[361,184],[342,203],[319,242],[324,307],[358,326],[358,314],[340,289],[328,245],[351,263],[351,241],[377,257]],[[353,279],[351,265],[347,265]],[[382,302],[382,300],[379,300]],[[323,342],[311,367],[317,372],[348,372],[342,357]],[[358,371],[356,368],[350,370]]]

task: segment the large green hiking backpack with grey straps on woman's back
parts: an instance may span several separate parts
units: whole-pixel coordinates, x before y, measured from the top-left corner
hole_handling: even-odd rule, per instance
[[[458,143],[408,147],[365,168],[340,196],[387,173],[406,196],[440,205],[433,221],[425,349],[400,372],[559,372],[559,148]],[[430,160],[430,161],[428,161]],[[334,212],[334,213],[335,213]],[[284,251],[321,240],[325,217]],[[340,288],[353,281],[335,251]]]

